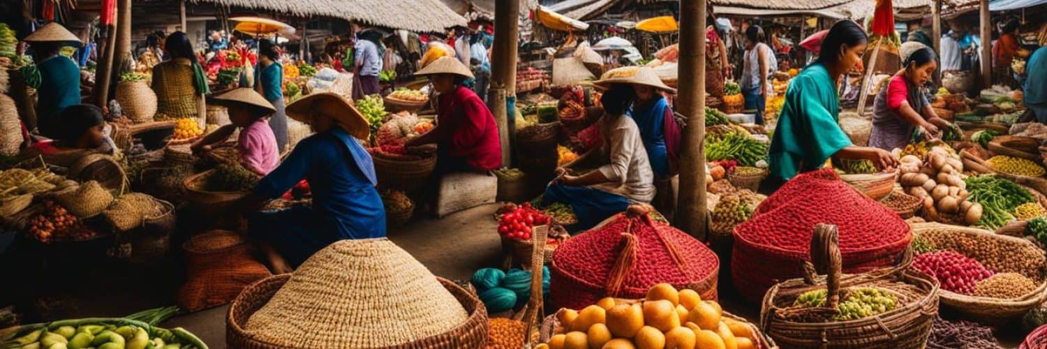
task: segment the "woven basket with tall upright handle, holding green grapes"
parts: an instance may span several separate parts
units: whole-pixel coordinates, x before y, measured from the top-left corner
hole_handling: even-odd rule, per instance
[[[938,314],[938,282],[909,269],[912,253],[899,267],[844,275],[834,225],[819,224],[811,237],[810,258],[803,262],[804,278],[779,283],[763,298],[760,327],[783,348],[923,348]],[[817,274],[826,272],[826,276]],[[887,312],[838,322],[798,322],[811,315],[832,315],[827,308],[790,308],[803,292],[827,288],[841,296],[846,287],[876,287],[894,295],[899,304]]]

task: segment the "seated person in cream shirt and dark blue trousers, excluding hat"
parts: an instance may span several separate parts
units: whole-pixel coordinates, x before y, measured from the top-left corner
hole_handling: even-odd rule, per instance
[[[581,176],[557,169],[560,178],[545,189],[542,206],[567,203],[578,216],[578,227],[588,228],[611,215],[624,212],[631,202],[654,198],[654,174],[640,136],[640,128],[625,115],[632,105],[632,89],[615,88],[600,99],[603,116],[603,154],[609,162]]]

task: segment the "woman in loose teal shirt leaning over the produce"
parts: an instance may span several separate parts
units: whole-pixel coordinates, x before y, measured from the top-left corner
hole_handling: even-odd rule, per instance
[[[840,129],[837,82],[862,61],[868,37],[856,23],[837,22],[822,41],[821,56],[785,91],[785,105],[771,141],[771,176],[762,191],[773,192],[801,172],[822,168],[829,157],[868,159],[878,168],[897,165],[890,152],[851,144]]]

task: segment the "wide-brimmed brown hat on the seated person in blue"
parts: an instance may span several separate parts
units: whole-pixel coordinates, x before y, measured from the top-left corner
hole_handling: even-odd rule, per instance
[[[306,95],[288,105],[285,112],[287,116],[306,124],[313,121],[313,115],[325,114],[334,118],[342,130],[354,137],[367,139],[371,136],[371,127],[363,114],[349,101],[334,92]]]

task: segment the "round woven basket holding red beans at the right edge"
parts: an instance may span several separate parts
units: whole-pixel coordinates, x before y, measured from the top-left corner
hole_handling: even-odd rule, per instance
[[[937,248],[948,248],[978,260],[986,268],[996,272],[1019,272],[1038,286],[1023,297],[1001,300],[987,297],[959,295],[941,290],[941,304],[956,310],[965,318],[990,326],[1002,325],[1021,318],[1030,309],[1047,300],[1047,259],[1044,252],[1031,241],[993,232],[940,223],[913,224],[913,236],[925,238]],[[1006,254],[979,255],[986,245],[996,245]],[[1024,268],[1016,268],[1005,261],[1021,261]]]

